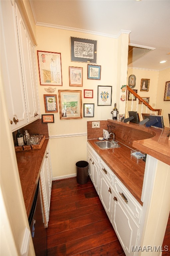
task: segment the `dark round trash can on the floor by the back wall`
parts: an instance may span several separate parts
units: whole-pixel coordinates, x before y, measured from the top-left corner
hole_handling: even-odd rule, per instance
[[[88,162],[79,161],[76,163],[77,183],[83,185],[88,182]]]

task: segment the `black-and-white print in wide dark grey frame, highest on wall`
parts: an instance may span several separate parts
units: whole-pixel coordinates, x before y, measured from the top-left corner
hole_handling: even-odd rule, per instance
[[[96,63],[97,41],[71,37],[71,61]]]

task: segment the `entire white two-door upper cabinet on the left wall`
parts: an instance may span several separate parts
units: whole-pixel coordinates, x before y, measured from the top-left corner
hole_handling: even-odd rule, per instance
[[[13,0],[1,1],[1,78],[11,130],[38,119],[34,46]]]

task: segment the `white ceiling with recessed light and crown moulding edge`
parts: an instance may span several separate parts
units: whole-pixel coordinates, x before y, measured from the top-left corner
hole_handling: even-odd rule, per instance
[[[131,31],[129,44],[155,48],[128,67],[170,67],[170,0],[30,0],[36,25],[117,38]],[[89,38],[90,39],[90,38]],[[167,60],[160,64],[161,60]]]

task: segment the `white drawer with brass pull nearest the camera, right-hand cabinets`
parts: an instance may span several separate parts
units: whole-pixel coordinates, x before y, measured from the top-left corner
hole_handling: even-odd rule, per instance
[[[136,222],[140,224],[142,206],[136,201],[136,199],[130,194],[130,192],[124,187],[124,185],[115,177],[114,183],[115,190],[119,195],[119,199],[123,202],[126,209],[132,214]]]

